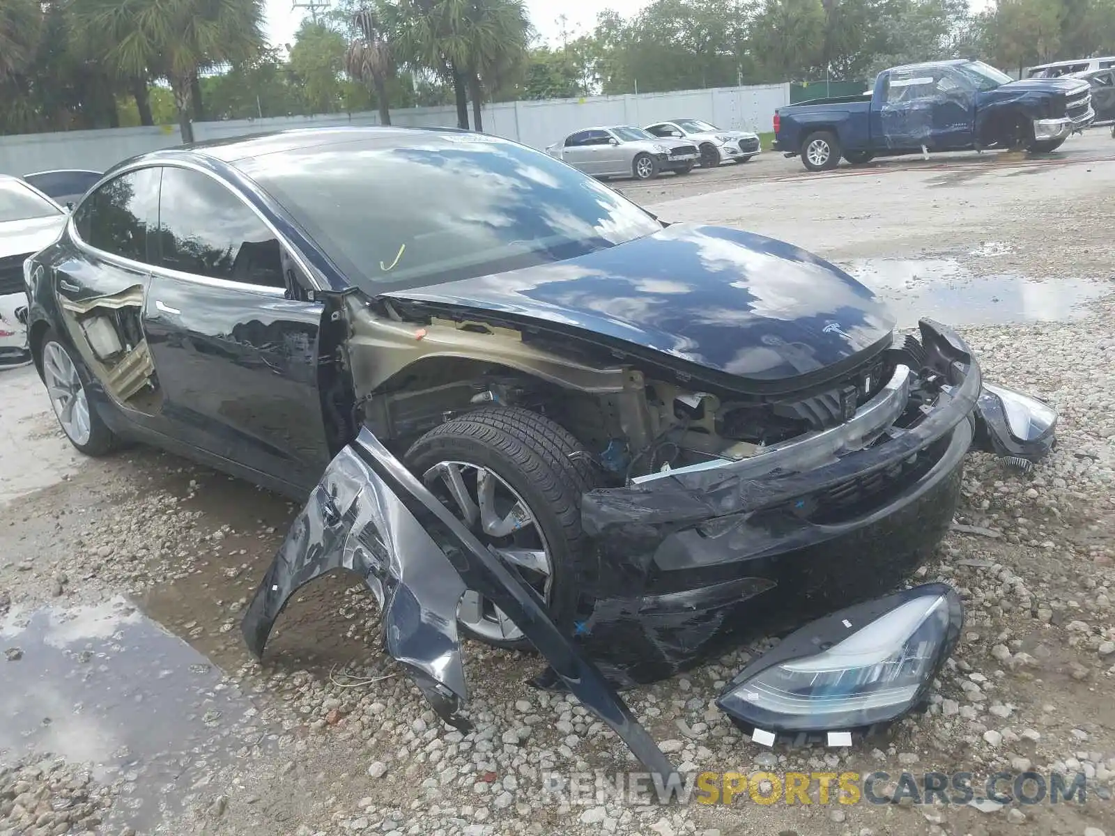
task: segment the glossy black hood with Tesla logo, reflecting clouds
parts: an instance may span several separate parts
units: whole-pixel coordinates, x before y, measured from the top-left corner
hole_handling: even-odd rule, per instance
[[[894,328],[883,303],[837,266],[780,241],[694,224],[578,259],[385,295],[757,381],[873,352]]]

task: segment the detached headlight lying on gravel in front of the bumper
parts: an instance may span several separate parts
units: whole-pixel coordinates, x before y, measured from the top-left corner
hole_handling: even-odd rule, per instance
[[[959,595],[941,583],[841,610],[752,662],[717,704],[767,733],[891,722],[922,701],[962,622]]]

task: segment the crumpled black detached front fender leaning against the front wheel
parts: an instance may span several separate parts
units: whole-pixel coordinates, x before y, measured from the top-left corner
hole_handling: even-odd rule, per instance
[[[600,670],[565,636],[513,568],[485,548],[367,429],[330,463],[291,526],[241,624],[262,657],[291,595],[333,570],[359,575],[382,607],[388,652],[447,722],[467,727],[457,606],[466,589],[492,601],[565,687],[650,771],[672,767]]]

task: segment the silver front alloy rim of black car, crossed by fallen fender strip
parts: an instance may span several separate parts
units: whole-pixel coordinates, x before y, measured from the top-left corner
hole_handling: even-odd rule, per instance
[[[439,461],[423,476],[426,485],[485,546],[550,600],[553,563],[537,518],[522,496],[498,474],[471,461]],[[518,641],[523,632],[487,599],[472,590],[457,607],[457,620],[476,635]]]

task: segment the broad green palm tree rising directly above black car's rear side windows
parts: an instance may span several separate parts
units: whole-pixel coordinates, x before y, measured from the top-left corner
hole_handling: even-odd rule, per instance
[[[89,36],[113,45],[108,62],[127,78],[165,78],[184,143],[200,69],[251,59],[263,45],[263,0],[74,0]]]

